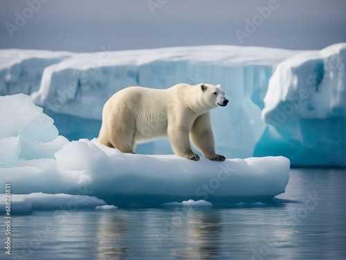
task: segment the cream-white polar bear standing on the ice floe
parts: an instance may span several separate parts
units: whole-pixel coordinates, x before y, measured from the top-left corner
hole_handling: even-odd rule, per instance
[[[199,160],[190,139],[203,156],[224,161],[215,153],[210,110],[228,103],[221,85],[177,84],[168,89],[127,87],[104,104],[99,142],[122,153],[136,144],[169,137],[176,155]]]

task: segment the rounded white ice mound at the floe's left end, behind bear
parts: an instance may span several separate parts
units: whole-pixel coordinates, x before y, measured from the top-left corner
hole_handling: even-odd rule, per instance
[[[17,164],[19,159],[53,159],[68,143],[29,96],[0,96],[0,111],[0,165]]]

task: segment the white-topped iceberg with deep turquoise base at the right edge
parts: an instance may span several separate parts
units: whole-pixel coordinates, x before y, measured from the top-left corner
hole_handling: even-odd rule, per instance
[[[345,166],[345,65],[346,43],[277,65],[264,97],[267,129],[256,156],[284,155],[296,166]]]

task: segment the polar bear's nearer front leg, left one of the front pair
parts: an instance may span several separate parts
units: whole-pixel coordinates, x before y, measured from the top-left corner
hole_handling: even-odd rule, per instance
[[[189,131],[187,128],[183,126],[169,126],[167,135],[170,138],[172,148],[176,155],[199,161],[199,156],[191,150]]]

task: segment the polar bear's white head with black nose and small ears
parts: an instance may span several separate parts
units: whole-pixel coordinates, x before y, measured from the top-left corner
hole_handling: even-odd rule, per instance
[[[199,87],[202,92],[203,103],[210,105],[210,107],[227,105],[228,99],[224,90],[221,89],[221,85],[200,84]]]

